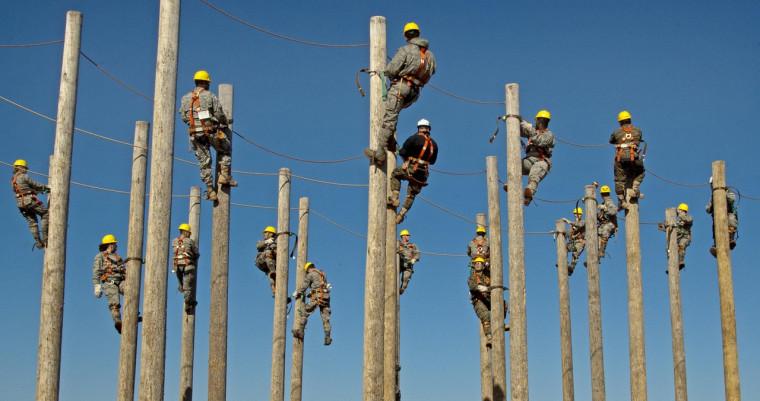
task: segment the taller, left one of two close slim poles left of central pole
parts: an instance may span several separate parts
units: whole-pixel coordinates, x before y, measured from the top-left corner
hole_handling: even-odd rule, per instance
[[[290,169],[280,169],[277,197],[277,273],[272,322],[271,401],[285,399],[285,329],[288,323],[288,245],[290,240]]]

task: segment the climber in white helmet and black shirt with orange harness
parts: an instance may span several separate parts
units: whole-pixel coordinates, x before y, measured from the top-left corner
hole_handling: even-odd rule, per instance
[[[430,166],[435,164],[438,159],[438,144],[430,137],[430,121],[424,118],[417,121],[417,133],[407,138],[399,151],[399,155],[404,162],[391,173],[391,194],[388,195],[389,208],[395,210],[399,206],[401,180],[408,182],[408,186],[404,205],[396,214],[396,224],[404,221],[404,217],[412,208],[414,198],[427,185]]]

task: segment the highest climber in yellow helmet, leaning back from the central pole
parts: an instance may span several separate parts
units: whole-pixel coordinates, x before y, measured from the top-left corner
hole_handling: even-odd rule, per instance
[[[385,162],[385,152],[396,149],[395,134],[399,113],[417,101],[420,90],[435,74],[435,56],[430,50],[430,42],[420,37],[420,27],[414,22],[404,25],[404,38],[407,44],[396,51],[383,72],[391,84],[384,99],[385,113],[379,147],[364,149],[370,163],[378,167]]]

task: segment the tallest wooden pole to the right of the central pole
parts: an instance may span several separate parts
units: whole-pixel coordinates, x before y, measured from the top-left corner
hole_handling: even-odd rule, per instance
[[[507,84],[507,221],[509,226],[509,361],[513,401],[528,400],[528,322],[525,311],[525,221],[520,155],[520,87]]]

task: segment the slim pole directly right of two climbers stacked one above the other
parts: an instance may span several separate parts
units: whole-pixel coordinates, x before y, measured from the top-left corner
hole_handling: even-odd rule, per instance
[[[491,252],[491,369],[493,401],[507,399],[507,352],[504,342],[504,258],[501,253],[501,206],[496,156],[486,158],[488,185],[488,238]]]

